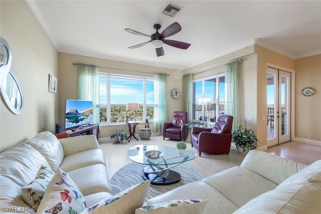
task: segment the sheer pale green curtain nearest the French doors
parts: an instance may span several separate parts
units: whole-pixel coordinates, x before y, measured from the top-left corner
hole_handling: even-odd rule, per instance
[[[233,127],[239,126],[238,61],[225,64],[226,114],[233,116]]]

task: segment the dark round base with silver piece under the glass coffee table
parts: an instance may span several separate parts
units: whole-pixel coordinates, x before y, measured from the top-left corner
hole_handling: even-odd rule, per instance
[[[181,174],[170,169],[155,172],[150,167],[145,167],[141,170],[141,176],[150,180],[153,185],[171,185],[181,180]]]

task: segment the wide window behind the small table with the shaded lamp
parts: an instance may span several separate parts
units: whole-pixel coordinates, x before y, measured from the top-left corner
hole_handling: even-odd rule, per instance
[[[154,84],[152,78],[120,75],[99,75],[99,106],[102,124],[133,121],[150,122],[154,111]],[[126,103],[138,103],[138,111],[126,111]]]

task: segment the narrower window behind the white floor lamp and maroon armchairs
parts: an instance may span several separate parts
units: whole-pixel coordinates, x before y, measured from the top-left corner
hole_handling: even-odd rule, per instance
[[[223,74],[224,75],[224,74]],[[207,105],[205,118],[208,122],[216,122],[216,118],[225,110],[225,77],[222,75],[193,80],[193,120],[202,120],[202,105],[199,98],[211,98]]]

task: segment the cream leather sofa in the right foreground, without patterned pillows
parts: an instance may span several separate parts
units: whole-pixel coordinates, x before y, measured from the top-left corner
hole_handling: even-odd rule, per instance
[[[153,197],[209,199],[205,213],[321,213],[321,160],[309,166],[250,151],[240,166]]]

